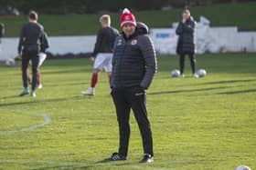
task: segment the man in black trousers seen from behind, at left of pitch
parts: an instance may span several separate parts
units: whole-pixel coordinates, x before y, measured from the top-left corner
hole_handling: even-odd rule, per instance
[[[35,11],[29,13],[28,20],[29,22],[22,26],[18,44],[18,56],[22,58],[22,79],[24,86],[24,90],[20,96],[29,94],[27,67],[31,60],[33,75],[31,96],[35,97],[37,88],[37,67],[39,64],[38,54],[40,52],[46,52],[48,41],[45,39],[47,36],[44,33],[44,27],[37,23],[38,15]]]

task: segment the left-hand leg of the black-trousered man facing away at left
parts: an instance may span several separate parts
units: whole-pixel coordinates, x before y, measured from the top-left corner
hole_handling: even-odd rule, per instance
[[[27,81],[27,67],[29,63],[29,56],[23,55],[21,58],[21,71],[22,71],[22,80],[23,80],[23,91],[21,92],[20,96],[28,95],[29,89],[28,89],[28,81]]]

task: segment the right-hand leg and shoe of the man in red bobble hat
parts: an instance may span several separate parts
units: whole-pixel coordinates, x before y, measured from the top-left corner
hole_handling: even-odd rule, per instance
[[[141,87],[134,87],[126,95],[128,96],[129,103],[132,105],[133,113],[143,139],[144,158],[140,162],[153,162],[153,138],[151,125],[147,117],[145,91]]]

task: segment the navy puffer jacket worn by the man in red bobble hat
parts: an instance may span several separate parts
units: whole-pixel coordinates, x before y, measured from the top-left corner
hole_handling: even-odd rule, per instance
[[[134,35],[119,35],[112,58],[112,88],[141,86],[147,89],[156,72],[155,47],[148,28],[138,23]]]

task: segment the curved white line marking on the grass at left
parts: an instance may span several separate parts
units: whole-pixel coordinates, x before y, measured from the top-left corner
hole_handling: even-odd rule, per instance
[[[12,130],[12,131],[6,131],[5,134],[7,134],[7,135],[13,135],[13,134],[16,134],[17,132],[31,131],[31,130],[37,129],[38,127],[48,125],[51,122],[50,117],[48,115],[44,114],[44,113],[33,112],[33,111],[14,110],[14,109],[1,109],[1,108],[0,108],[0,110],[10,111],[10,112],[18,113],[18,114],[23,114],[23,115],[25,115],[25,114],[26,115],[37,115],[38,117],[43,117],[44,118],[44,122],[41,123],[41,124],[30,125],[28,127],[24,127],[24,128]]]

